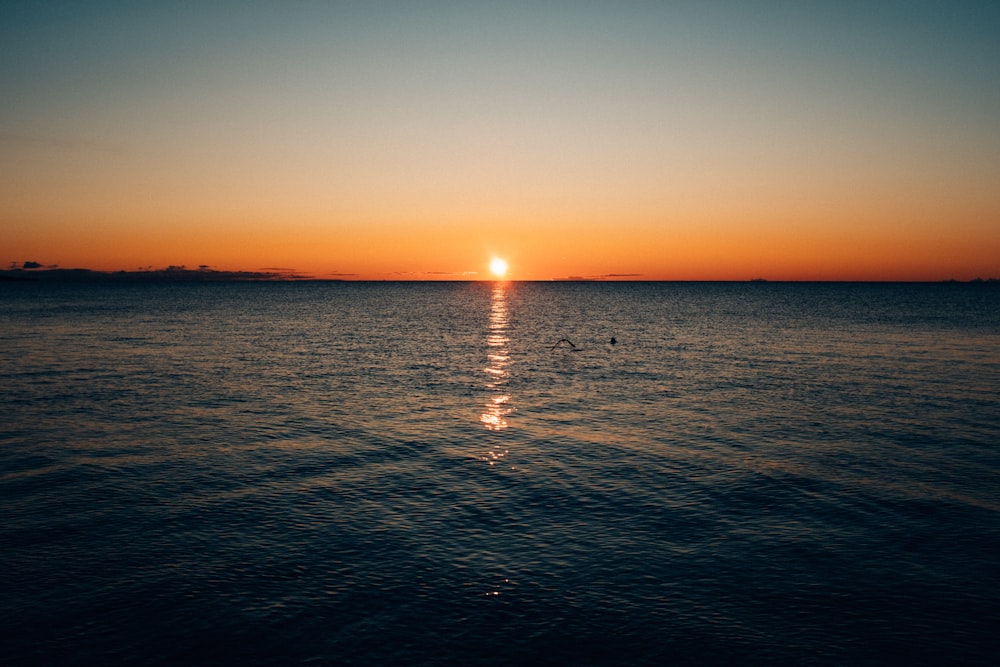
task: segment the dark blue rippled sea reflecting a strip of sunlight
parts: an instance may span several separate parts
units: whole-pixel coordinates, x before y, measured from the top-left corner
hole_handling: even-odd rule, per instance
[[[995,287],[7,284],[0,382],[5,665],[1000,659]]]

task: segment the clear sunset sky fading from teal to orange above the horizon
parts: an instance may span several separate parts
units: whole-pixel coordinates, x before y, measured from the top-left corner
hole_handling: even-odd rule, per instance
[[[0,5],[0,262],[1000,277],[1000,3]]]

